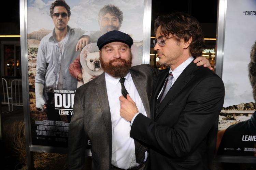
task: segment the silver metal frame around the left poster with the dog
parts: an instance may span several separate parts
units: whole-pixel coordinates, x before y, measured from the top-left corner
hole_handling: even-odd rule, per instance
[[[33,145],[31,134],[30,104],[29,104],[29,81],[28,81],[28,38],[27,38],[27,0],[19,1],[20,7],[20,48],[22,61],[22,93],[23,93],[23,110],[25,124],[26,152],[28,160],[28,169],[33,167],[32,152],[46,153],[67,153],[67,148]],[[152,0],[144,0],[144,17],[143,17],[143,57],[142,64],[150,63],[150,36],[151,36],[151,4]],[[86,155],[91,156],[90,150],[86,150]]]

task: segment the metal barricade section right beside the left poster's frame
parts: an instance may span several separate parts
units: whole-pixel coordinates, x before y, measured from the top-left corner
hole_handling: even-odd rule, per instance
[[[12,98],[12,111],[13,111],[13,106],[23,106],[21,79],[14,79],[11,81],[11,98]]]

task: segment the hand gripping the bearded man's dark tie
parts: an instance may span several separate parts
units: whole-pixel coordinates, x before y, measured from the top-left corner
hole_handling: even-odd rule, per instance
[[[136,103],[133,102],[130,95],[127,94],[127,99],[124,96],[119,97],[120,100],[120,116],[131,122],[135,114],[139,112]]]

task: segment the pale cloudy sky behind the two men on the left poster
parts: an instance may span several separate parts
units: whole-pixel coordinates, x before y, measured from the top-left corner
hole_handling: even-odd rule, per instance
[[[54,0],[31,0],[28,2],[28,33],[39,29],[54,28],[49,8]],[[107,4],[114,4],[124,13],[120,31],[131,34],[138,41],[143,40],[144,0],[66,0],[71,8],[69,26],[86,31],[99,30],[98,12]]]

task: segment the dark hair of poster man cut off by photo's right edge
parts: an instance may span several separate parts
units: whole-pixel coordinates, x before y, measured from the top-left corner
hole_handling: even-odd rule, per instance
[[[256,101],[256,41],[252,46],[251,61],[248,65],[249,78],[253,88],[253,98]]]

